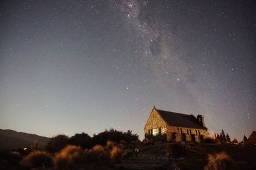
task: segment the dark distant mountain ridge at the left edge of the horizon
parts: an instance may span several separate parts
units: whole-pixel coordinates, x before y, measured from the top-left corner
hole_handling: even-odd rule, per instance
[[[36,134],[16,132],[10,129],[0,129],[0,150],[30,147],[36,139],[39,148],[44,148],[51,138],[38,136]]]

